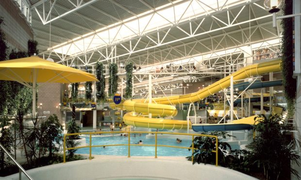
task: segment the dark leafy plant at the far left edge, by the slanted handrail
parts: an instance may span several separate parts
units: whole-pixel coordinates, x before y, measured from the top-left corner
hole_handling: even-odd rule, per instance
[[[4,146],[6,150],[9,152],[11,151],[11,147],[13,146],[13,136],[10,131],[10,120],[5,117],[0,117],[0,144]],[[0,149],[0,171],[3,171],[4,168],[8,167],[10,165],[9,159],[8,161],[5,161],[4,158],[5,152],[4,150]]]

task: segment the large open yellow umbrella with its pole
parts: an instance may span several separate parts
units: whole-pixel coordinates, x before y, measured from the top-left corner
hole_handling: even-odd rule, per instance
[[[50,62],[37,56],[1,61],[0,80],[17,81],[33,90],[33,115],[35,114],[36,99],[35,83],[98,81],[95,75]],[[32,85],[29,83],[32,83]]]

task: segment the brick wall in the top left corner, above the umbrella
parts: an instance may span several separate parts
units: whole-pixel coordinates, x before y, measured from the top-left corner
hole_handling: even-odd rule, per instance
[[[33,39],[33,30],[16,3],[13,0],[0,0],[0,16],[4,20],[5,25],[2,29],[10,50],[16,48],[27,52],[27,43]]]

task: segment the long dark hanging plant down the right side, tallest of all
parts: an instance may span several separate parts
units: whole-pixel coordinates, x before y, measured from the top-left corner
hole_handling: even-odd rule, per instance
[[[285,0],[283,7],[284,15],[291,15],[293,13],[293,1]],[[293,19],[285,18],[281,21],[283,27],[282,36],[282,62],[281,69],[283,75],[284,94],[289,108],[294,107],[293,103],[296,97],[297,81],[293,77]],[[288,109],[292,112],[291,109]]]

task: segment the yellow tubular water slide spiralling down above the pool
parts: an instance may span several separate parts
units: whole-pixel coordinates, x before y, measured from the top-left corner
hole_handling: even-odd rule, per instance
[[[187,124],[186,120],[170,120],[158,117],[175,116],[177,114],[177,110],[174,105],[182,103],[193,103],[202,100],[207,96],[213,95],[220,90],[228,88],[230,86],[231,76],[233,76],[233,79],[235,81],[245,79],[253,75],[262,75],[269,72],[279,72],[281,71],[280,61],[281,60],[273,60],[259,64],[252,64],[194,93],[153,98],[152,103],[150,104],[148,99],[126,100],[123,102],[123,108],[131,112],[125,114],[123,120],[127,125],[133,125],[136,127],[155,129],[187,129],[188,125],[190,129],[191,123],[189,122],[189,124]],[[153,118],[146,116],[149,113],[152,114]],[[240,121],[243,120],[244,119],[241,119]]]

